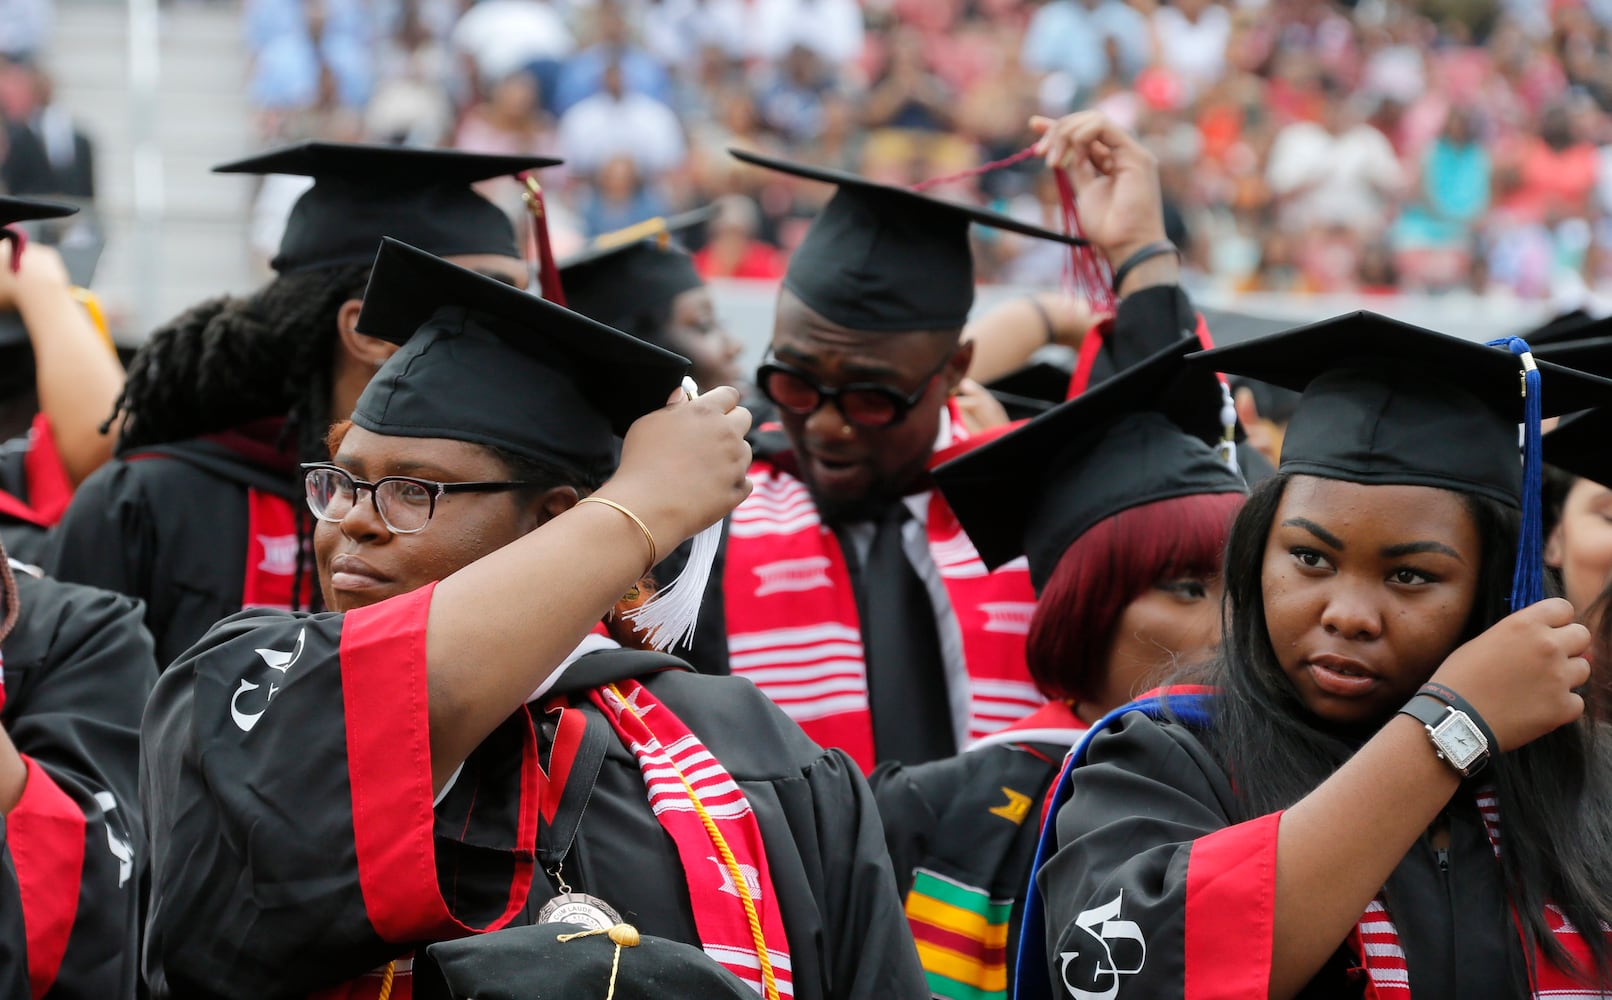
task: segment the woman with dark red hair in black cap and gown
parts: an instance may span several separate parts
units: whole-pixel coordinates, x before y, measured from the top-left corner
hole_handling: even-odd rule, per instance
[[[935,469],[987,566],[1028,556],[1027,652],[1048,697],[958,756],[870,779],[937,997],[1008,995],[1064,755],[1219,640],[1220,552],[1244,485],[1209,444],[1224,437],[1217,379],[1183,371],[1196,345],[1185,337]]]

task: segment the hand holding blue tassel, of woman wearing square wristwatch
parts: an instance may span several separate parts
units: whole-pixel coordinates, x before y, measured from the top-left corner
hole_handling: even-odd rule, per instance
[[[1507,615],[1459,647],[1433,681],[1472,703],[1494,731],[1499,750],[1515,750],[1573,723],[1589,681],[1589,629],[1559,597]]]

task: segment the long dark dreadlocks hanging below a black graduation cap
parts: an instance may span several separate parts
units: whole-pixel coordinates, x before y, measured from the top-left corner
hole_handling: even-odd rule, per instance
[[[282,274],[245,298],[222,295],[185,310],[134,355],[102,432],[121,413],[118,447],[127,452],[284,416],[280,445],[295,442],[301,461],[322,460],[337,313],[343,302],[363,297],[369,268],[351,263]],[[313,524],[300,503],[293,508],[292,606],[303,608]],[[306,595],[308,610],[318,610],[318,590]]]

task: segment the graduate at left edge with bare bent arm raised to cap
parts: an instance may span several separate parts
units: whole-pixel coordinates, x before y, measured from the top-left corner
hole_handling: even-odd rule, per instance
[[[97,426],[123,366],[84,308],[55,248],[8,229],[77,208],[0,197],[0,539],[39,563],[73,489],[111,456]],[[81,279],[82,281],[82,279]]]

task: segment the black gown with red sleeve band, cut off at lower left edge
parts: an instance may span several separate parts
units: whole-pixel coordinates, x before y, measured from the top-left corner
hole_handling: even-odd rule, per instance
[[[0,842],[0,987],[23,969],[34,995],[132,997],[145,865],[137,760],[152,640],[126,597],[26,573],[16,584],[21,615],[0,647],[0,723],[29,776]],[[18,927],[26,963],[11,960]]]

